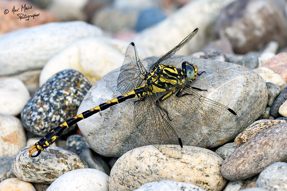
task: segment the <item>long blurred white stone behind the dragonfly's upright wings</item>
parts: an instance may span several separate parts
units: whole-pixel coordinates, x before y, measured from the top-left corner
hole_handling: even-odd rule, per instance
[[[191,1],[160,23],[138,33],[133,42],[137,47],[146,50],[148,56],[162,56],[177,46],[195,28],[199,28],[191,42],[181,48],[178,54],[189,55],[198,52],[208,42],[216,39],[215,35],[210,35],[209,30],[220,11],[232,1],[234,0]]]

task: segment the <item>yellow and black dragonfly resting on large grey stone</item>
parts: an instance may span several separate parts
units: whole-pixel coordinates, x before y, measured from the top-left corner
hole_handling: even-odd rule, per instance
[[[214,129],[232,128],[238,125],[239,119],[235,111],[199,94],[200,91],[207,90],[191,86],[197,75],[200,76],[205,71],[197,73],[198,67],[188,61],[182,62],[182,68],[162,64],[162,61],[173,56],[187,44],[197,31],[198,28],[157,60],[150,67],[149,72],[139,60],[135,44],[133,42],[129,44],[117,79],[117,88],[122,95],[84,111],[55,127],[30,147],[29,155],[31,157],[40,155],[41,151],[49,147],[67,128],[82,119],[132,98],[137,98],[133,115],[135,126],[141,135],[164,155],[174,159],[182,158],[183,142],[177,130],[174,129],[179,125],[172,124],[174,120],[169,116],[170,112],[183,115],[193,125],[214,127]],[[162,107],[163,100],[168,103],[168,108]],[[195,108],[196,115],[191,112],[191,108]],[[36,154],[33,155],[35,152]]]

